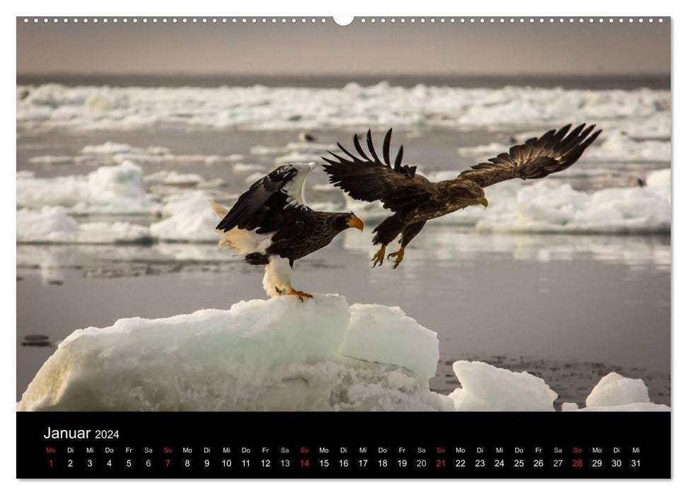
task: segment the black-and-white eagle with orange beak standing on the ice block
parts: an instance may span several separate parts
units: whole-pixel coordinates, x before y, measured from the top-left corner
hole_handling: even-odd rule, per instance
[[[314,163],[283,165],[255,182],[227,211],[211,202],[221,221],[219,245],[237,250],[249,264],[265,264],[262,287],[268,296],[312,297],[291,287],[294,262],[324,248],[347,228],[362,231],[352,213],[314,211],[303,201],[303,187]]]

